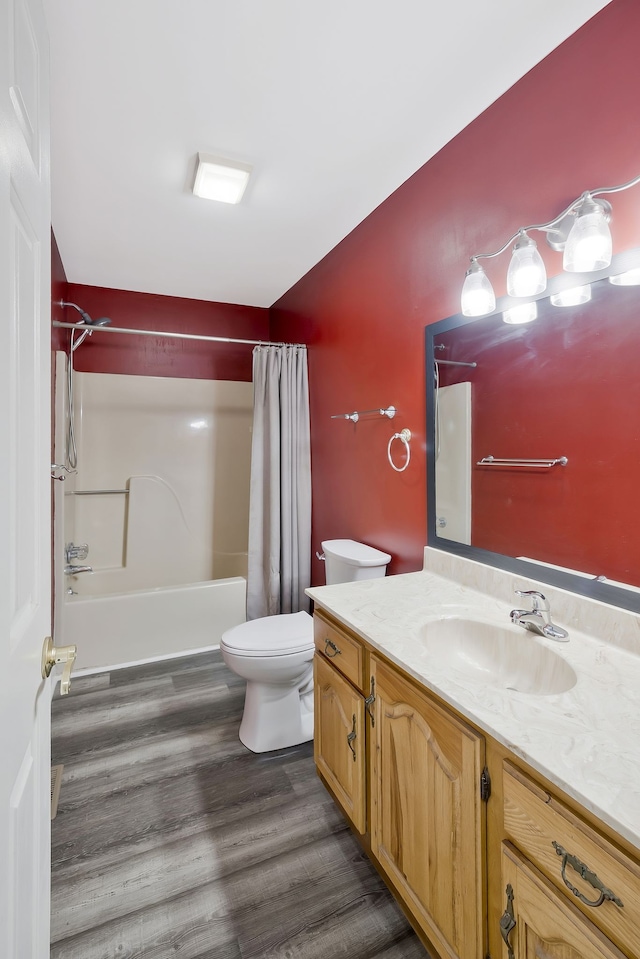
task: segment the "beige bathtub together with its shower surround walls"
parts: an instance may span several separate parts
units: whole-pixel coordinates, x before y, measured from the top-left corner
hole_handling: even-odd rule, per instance
[[[59,353],[56,451],[63,366]],[[79,669],[217,646],[246,617],[251,383],[75,381],[78,471],[54,484],[56,561],[86,543],[93,572],[58,571],[56,635]]]

